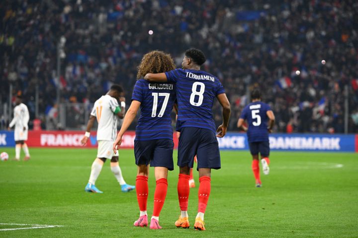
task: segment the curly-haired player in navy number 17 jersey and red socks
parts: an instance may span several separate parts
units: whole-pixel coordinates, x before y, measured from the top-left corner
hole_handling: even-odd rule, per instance
[[[140,210],[139,219],[134,226],[148,226],[147,199],[149,164],[154,168],[156,189],[150,229],[162,229],[159,226],[159,214],[163,208],[168,188],[168,170],[173,164],[173,128],[171,112],[176,101],[175,85],[172,83],[151,83],[142,79],[147,73],[165,72],[175,68],[170,55],[152,51],[143,56],[138,67],[137,82],[132,94],[132,103],[124,117],[122,127],[113,144],[118,149],[122,136],[136,117],[141,114],[136,126],[134,156],[138,166],[136,179],[137,200]]]

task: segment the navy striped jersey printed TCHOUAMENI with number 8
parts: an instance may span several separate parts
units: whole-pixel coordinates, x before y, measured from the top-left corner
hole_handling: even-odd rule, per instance
[[[198,127],[215,132],[212,106],[217,95],[225,93],[219,79],[202,70],[180,69],[165,73],[176,84],[178,100],[177,131]]]

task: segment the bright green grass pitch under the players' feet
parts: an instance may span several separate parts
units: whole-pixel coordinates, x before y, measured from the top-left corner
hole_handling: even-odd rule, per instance
[[[0,151],[14,156],[14,148]],[[169,187],[160,231],[133,227],[139,211],[135,191],[122,193],[107,162],[96,185],[84,191],[94,149],[30,148],[28,162],[0,162],[0,229],[32,224],[63,227],[0,231],[0,237],[358,237],[358,154],[273,152],[263,187],[254,187],[249,152],[222,151],[213,171],[206,231],[194,231],[198,187],[191,188],[188,230],[179,216],[178,169]],[[176,155],[175,155],[176,158]],[[176,162],[176,159],[175,159]],[[120,151],[124,179],[135,183],[132,150]],[[155,179],[149,178],[149,217]],[[198,175],[194,172],[198,186]]]

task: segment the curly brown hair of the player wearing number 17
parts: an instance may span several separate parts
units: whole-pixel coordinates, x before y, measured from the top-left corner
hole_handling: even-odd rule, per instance
[[[138,66],[137,79],[143,78],[147,73],[163,73],[175,68],[170,54],[163,51],[151,51],[143,56]]]

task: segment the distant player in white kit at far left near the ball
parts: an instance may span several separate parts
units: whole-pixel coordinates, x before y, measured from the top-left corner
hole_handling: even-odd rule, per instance
[[[25,152],[25,158],[24,161],[30,159],[30,153],[28,151],[28,147],[26,144],[27,140],[27,133],[28,133],[28,121],[30,119],[28,109],[25,104],[21,102],[21,96],[17,95],[15,99],[16,107],[14,108],[14,118],[11,120],[9,127],[7,128],[10,130],[12,126],[15,125],[15,131],[14,131],[14,138],[15,138],[15,159],[19,161],[20,160],[20,152],[21,147],[23,151]]]

